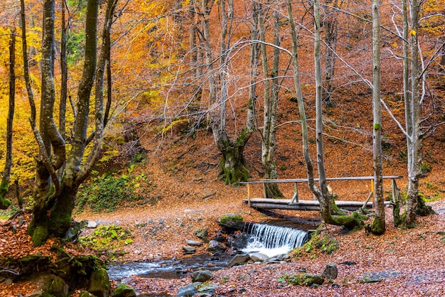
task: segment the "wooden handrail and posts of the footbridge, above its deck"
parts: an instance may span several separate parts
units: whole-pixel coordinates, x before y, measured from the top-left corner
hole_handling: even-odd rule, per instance
[[[395,198],[398,195],[398,188],[397,188],[397,184],[395,182],[395,180],[398,178],[402,178],[402,176],[400,176],[400,175],[383,176],[383,179],[391,180],[392,200],[395,200]],[[318,178],[314,178],[314,180],[318,181]],[[375,176],[350,176],[350,177],[326,178],[326,180],[370,180],[371,181],[371,193],[368,195],[368,200],[374,194]],[[241,184],[247,185],[247,200],[248,200],[249,206],[250,206],[250,185],[255,184],[255,183],[263,184],[264,198],[267,198],[265,186],[264,186],[266,183],[294,183],[294,195],[292,196],[291,202],[289,203],[289,204],[292,204],[292,203],[299,202],[298,183],[308,183],[308,179],[307,178],[284,179],[284,180],[262,179],[262,180],[251,180],[251,181],[247,181],[247,182],[241,182]]]

